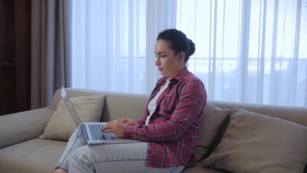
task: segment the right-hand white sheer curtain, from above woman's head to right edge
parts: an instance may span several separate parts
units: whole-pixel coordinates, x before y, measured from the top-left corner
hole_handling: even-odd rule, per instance
[[[307,7],[294,0],[178,1],[189,70],[210,100],[307,106]]]

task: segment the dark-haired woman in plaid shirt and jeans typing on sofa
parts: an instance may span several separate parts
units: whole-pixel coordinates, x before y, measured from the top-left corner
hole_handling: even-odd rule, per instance
[[[101,129],[141,142],[88,146],[75,131],[55,172],[180,172],[195,165],[192,152],[207,93],[186,67],[194,51],[194,43],[183,32],[159,33],[155,65],[164,76],[152,91],[144,116],[109,121]]]

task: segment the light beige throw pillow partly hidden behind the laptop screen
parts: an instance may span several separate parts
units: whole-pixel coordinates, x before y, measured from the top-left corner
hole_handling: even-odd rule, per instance
[[[105,95],[70,98],[82,122],[99,122],[104,107]],[[68,141],[76,125],[63,100],[50,118],[41,139]]]

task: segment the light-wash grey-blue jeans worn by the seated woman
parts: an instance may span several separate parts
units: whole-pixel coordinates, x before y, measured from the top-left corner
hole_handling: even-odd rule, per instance
[[[184,166],[145,166],[147,143],[86,145],[75,130],[57,168],[69,172],[181,172]]]

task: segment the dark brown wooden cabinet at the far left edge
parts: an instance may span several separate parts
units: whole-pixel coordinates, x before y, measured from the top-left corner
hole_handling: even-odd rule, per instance
[[[0,0],[0,115],[30,109],[31,1]]]

